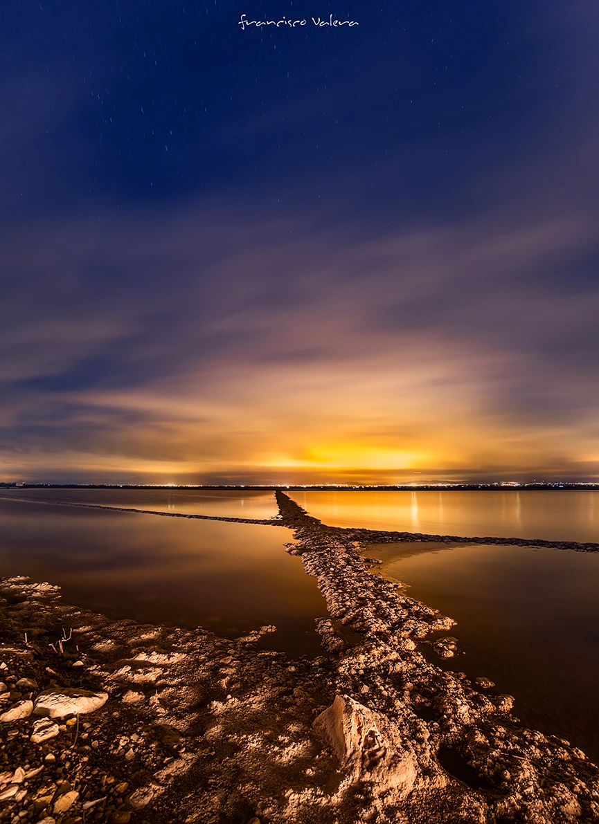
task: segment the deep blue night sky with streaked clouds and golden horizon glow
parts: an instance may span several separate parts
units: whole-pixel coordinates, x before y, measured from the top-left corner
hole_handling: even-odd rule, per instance
[[[4,0],[0,480],[599,480],[598,33]]]

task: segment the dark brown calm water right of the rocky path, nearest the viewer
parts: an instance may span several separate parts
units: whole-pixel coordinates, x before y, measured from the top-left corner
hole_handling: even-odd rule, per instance
[[[408,595],[457,620],[449,634],[465,654],[442,667],[495,681],[516,696],[526,724],[599,762],[599,554],[377,545],[367,555],[373,550]]]

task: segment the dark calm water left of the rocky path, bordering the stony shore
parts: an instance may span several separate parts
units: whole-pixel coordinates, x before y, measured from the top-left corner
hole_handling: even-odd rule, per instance
[[[263,645],[322,654],[314,619],[327,607],[289,540],[283,527],[0,502],[0,575],[59,584],[65,602],[119,618],[227,637],[274,624]]]

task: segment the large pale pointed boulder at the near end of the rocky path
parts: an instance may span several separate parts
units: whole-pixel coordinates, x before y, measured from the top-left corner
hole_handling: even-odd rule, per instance
[[[416,781],[417,761],[412,745],[386,715],[337,695],[318,715],[314,728],[328,739],[342,769],[354,781],[394,788],[407,795]]]

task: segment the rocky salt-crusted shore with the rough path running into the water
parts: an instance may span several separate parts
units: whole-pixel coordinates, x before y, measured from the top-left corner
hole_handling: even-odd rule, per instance
[[[112,621],[0,581],[0,822],[599,822],[599,770],[431,662],[453,621],[277,493],[322,657]],[[433,652],[434,650],[434,652]]]

